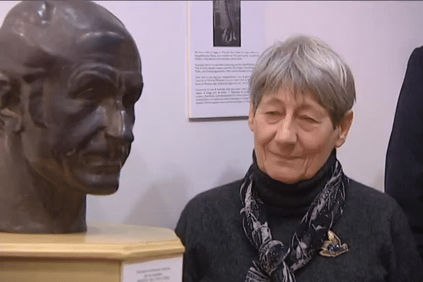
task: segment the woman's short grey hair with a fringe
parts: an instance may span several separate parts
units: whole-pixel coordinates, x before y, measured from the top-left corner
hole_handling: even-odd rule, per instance
[[[257,110],[265,94],[280,87],[293,94],[311,92],[338,125],[355,102],[350,67],[325,42],[305,35],[276,42],[259,57],[250,77],[250,99]]]

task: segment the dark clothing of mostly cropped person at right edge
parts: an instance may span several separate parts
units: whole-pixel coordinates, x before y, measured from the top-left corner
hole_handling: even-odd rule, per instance
[[[398,97],[385,191],[403,208],[423,257],[423,47],[412,52]]]

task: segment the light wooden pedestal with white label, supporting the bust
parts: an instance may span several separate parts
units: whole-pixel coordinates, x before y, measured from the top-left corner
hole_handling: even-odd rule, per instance
[[[92,223],[87,233],[0,233],[1,282],[182,281],[184,247],[167,228]]]

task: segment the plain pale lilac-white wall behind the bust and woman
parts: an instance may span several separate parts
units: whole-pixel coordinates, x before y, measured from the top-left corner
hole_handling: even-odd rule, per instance
[[[0,20],[16,3],[0,2]],[[174,228],[191,197],[244,176],[252,133],[245,120],[188,121],[185,1],[97,3],[120,18],[137,42],[145,88],[135,107],[135,142],[120,188],[114,195],[89,196],[87,220]],[[348,176],[383,190],[407,59],[423,45],[423,2],[259,3],[265,8],[266,47],[295,33],[315,35],[350,64],[357,87],[355,120],[338,157]]]

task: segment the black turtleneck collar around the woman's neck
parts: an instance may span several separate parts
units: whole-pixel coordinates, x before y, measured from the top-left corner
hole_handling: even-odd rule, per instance
[[[267,214],[279,216],[302,216],[314,198],[324,188],[327,180],[332,176],[332,167],[336,164],[336,150],[329,156],[326,164],[320,168],[315,176],[298,183],[286,184],[274,180],[257,166],[257,159],[253,152],[253,189],[266,204]]]

